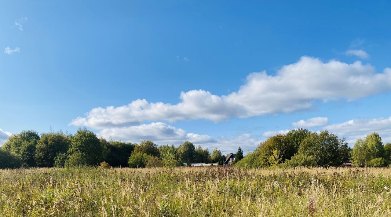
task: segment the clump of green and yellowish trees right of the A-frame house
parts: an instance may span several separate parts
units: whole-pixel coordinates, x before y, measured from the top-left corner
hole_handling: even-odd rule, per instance
[[[328,131],[312,132],[292,129],[261,142],[235,165],[245,168],[340,166],[352,162],[356,166],[387,166],[391,162],[391,143],[383,145],[377,133],[359,138],[353,149]]]

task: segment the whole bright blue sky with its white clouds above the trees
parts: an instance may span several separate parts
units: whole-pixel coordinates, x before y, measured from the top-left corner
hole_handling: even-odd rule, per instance
[[[295,127],[391,142],[390,9],[1,1],[0,143],[50,127],[224,151]]]

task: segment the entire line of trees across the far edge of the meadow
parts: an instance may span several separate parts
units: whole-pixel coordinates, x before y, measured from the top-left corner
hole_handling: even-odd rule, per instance
[[[245,168],[340,166],[352,162],[357,166],[387,166],[391,163],[391,143],[383,145],[377,133],[359,138],[353,148],[344,138],[328,131],[312,132],[292,129],[261,142],[243,157],[238,148],[235,166]],[[130,143],[98,138],[87,129],[75,135],[22,131],[11,135],[0,148],[0,168],[74,167],[110,165],[112,167],[175,167],[191,163],[223,164],[225,156],[214,148],[212,154],[201,146],[185,141],[178,147],[156,145],[150,140]]]

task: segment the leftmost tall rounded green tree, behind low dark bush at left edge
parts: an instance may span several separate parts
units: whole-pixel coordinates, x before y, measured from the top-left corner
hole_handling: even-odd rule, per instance
[[[36,131],[27,130],[8,137],[2,149],[18,156],[22,161],[22,167],[35,167],[35,148],[39,140]]]

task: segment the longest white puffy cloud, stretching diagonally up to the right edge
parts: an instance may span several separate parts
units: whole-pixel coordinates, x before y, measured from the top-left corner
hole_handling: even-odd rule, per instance
[[[355,100],[391,91],[391,68],[377,73],[369,64],[336,60],[323,62],[303,56],[283,66],[276,75],[251,73],[237,92],[213,95],[205,90],[180,94],[178,104],[137,99],[119,107],[93,108],[70,125],[95,129],[124,127],[144,121],[207,119],[220,122],[265,114],[292,113],[312,108],[316,101]]]

